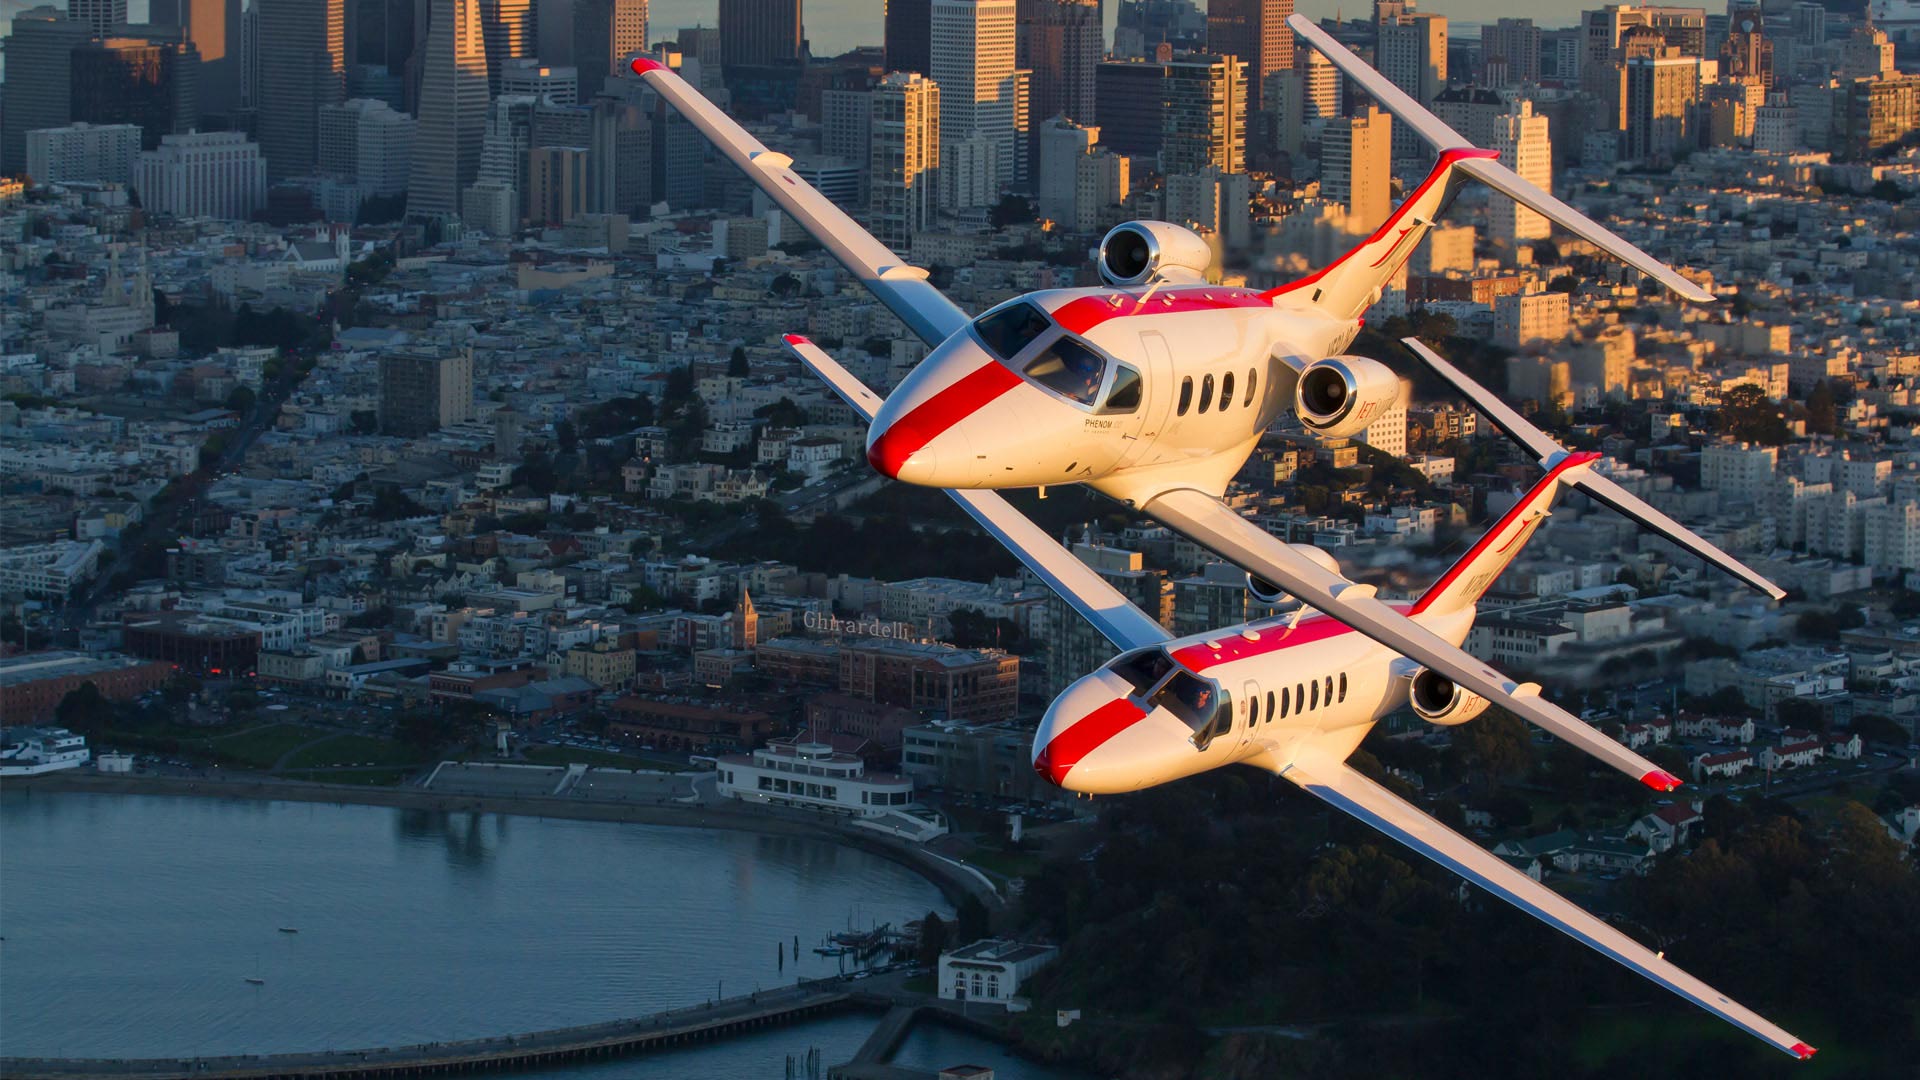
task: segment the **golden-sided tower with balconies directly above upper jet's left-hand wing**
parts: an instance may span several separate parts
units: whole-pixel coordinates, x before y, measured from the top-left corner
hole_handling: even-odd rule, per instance
[[[941,88],[918,71],[895,71],[866,94],[866,227],[895,252],[933,223],[939,206]]]

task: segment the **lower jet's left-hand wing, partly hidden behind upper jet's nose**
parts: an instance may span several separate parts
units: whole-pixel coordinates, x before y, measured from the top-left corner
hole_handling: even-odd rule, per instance
[[[874,411],[879,409],[879,394],[874,394],[851,371],[841,367],[837,359],[801,334],[787,334],[785,342],[801,357],[801,363],[831,386],[852,411],[868,421],[874,419]],[[1033,525],[1027,515],[1014,509],[998,492],[948,488],[947,494],[989,536],[998,540],[1037,578],[1046,582],[1046,588],[1060,594],[1060,600],[1066,600],[1106,640],[1114,642],[1114,648],[1125,651],[1140,646],[1158,646],[1171,638],[1160,623],[1135,607],[1131,600],[1108,584],[1092,567],[1062,548],[1058,540],[1043,532],[1039,525]]]

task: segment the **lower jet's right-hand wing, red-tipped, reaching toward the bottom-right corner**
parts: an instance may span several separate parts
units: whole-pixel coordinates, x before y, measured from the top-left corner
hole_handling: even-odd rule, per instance
[[[1588,947],[1607,955],[1620,965],[1672,990],[1680,997],[1720,1017],[1722,1020],[1761,1038],[1801,1061],[1812,1057],[1814,1047],[1772,1024],[1753,1009],[1732,1001],[1713,986],[1693,978],[1668,963],[1661,953],[1647,949],[1626,934],[1615,930],[1580,905],[1509,867],[1492,851],[1473,840],[1440,824],[1419,807],[1400,799],[1386,788],[1375,784],[1352,765],[1331,759],[1296,761],[1281,769],[1281,776],[1292,780],[1302,792],[1379,828],[1386,836],[1413,847],[1434,863],[1453,871],[1486,892],[1505,899],[1534,919],[1553,926],[1561,934],[1574,938]]]

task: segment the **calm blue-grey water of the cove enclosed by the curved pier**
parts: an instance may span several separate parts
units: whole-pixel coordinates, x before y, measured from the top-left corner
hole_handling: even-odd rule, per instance
[[[10,792],[0,830],[10,1055],[584,1024],[831,974],[824,932],[948,911],[889,859],[733,830],[77,792]]]

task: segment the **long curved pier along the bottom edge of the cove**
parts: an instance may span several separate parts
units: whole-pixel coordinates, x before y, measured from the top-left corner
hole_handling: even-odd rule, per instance
[[[728,997],[710,1005],[670,1009],[651,1017],[584,1024],[578,1028],[319,1053],[144,1059],[4,1057],[0,1059],[0,1076],[8,1080],[106,1080],[109,1076],[132,1076],[138,1080],[334,1080],[346,1076],[397,1080],[465,1072],[515,1072],[708,1042],[847,1007],[872,1009],[887,1005],[889,1001],[881,997],[854,994],[845,982],[829,978],[749,994],[745,997]],[[893,1043],[899,1043],[900,1034],[904,1034],[906,1024],[912,1020],[912,1009],[899,1011],[906,1013],[906,1017],[900,1020],[900,1030],[891,1038]],[[893,1045],[887,1047],[889,1053]]]

